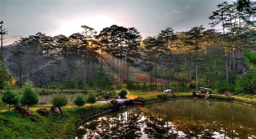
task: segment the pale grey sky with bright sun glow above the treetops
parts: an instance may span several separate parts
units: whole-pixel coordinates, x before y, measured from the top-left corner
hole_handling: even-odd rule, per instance
[[[231,3],[232,0],[226,0]],[[143,39],[167,27],[187,31],[193,26],[211,28],[208,19],[222,0],[0,0],[0,21],[8,30],[5,45],[13,36],[37,32],[48,36],[82,32],[82,25],[97,32],[113,24],[136,27]],[[217,26],[215,28],[218,28]]]

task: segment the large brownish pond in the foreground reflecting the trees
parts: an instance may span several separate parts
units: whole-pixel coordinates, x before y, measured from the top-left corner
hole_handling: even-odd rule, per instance
[[[215,100],[132,106],[85,121],[76,138],[255,138],[256,109]]]

